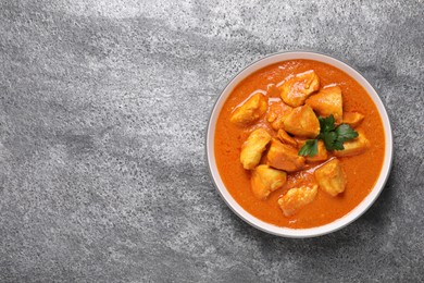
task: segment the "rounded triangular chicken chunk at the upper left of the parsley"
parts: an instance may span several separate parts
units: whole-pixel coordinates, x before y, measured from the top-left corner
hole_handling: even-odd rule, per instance
[[[287,115],[284,130],[295,136],[315,138],[320,134],[320,122],[311,107],[302,106]]]

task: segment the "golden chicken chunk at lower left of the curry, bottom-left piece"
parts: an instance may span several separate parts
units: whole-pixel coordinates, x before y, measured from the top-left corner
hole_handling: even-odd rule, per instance
[[[286,181],[286,172],[262,164],[253,170],[250,184],[253,195],[259,199],[265,199],[272,192],[280,188]]]

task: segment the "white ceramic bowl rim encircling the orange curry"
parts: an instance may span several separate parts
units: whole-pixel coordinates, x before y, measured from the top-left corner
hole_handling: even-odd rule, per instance
[[[361,204],[359,204],[353,210],[351,210],[348,214],[345,217],[337,219],[336,221],[317,226],[317,227],[310,227],[310,229],[289,229],[289,227],[280,227],[276,226],[270,223],[266,223],[262,220],[259,220],[258,218],[251,216],[249,212],[247,212],[240,205],[236,202],[236,200],[232,197],[232,195],[226,189],[224,183],[221,180],[221,176],[216,169],[216,162],[215,162],[215,155],[214,155],[214,135],[215,135],[215,125],[216,120],[220,114],[220,111],[225,102],[225,100],[230,95],[232,90],[247,76],[252,74],[253,72],[280,62],[280,61],[287,61],[287,60],[295,60],[295,59],[309,59],[309,60],[315,60],[319,62],[324,62],[329,65],[333,65],[335,67],[338,67],[339,70],[344,71],[351,77],[353,77],[371,96],[373,99],[375,106],[378,109],[378,112],[383,120],[383,126],[385,131],[385,143],[386,143],[386,150],[385,150],[385,157],[384,157],[384,163],[383,169],[379,174],[379,177],[372,189],[372,192],[365,197],[364,200],[362,200]],[[391,169],[391,162],[392,162],[392,134],[391,134],[391,126],[389,122],[389,118],[387,115],[386,109],[379,99],[377,93],[375,89],[371,86],[371,84],[356,70],[353,70],[351,66],[347,65],[346,63],[336,60],[332,57],[314,53],[314,52],[284,52],[284,53],[275,53],[267,56],[249,66],[245,67],[239,74],[237,74],[229,84],[225,87],[224,91],[222,91],[221,96],[219,97],[213,110],[211,118],[209,120],[208,125],[208,134],[207,134],[207,155],[208,155],[208,162],[209,168],[211,171],[211,175],[213,177],[213,181],[215,183],[215,186],[217,190],[220,192],[221,196],[225,200],[225,202],[228,205],[228,207],[242,220],[251,224],[252,226],[262,230],[264,232],[267,232],[270,234],[284,236],[284,237],[314,237],[320,235],[325,235],[328,233],[332,233],[334,231],[337,231],[354,220],[357,220],[362,213],[364,213],[377,199],[378,195],[382,193],[386,181],[388,179],[390,169]]]

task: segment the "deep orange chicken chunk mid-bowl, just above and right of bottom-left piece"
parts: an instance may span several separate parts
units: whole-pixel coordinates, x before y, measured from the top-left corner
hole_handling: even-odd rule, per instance
[[[266,159],[269,165],[288,172],[298,171],[304,167],[304,157],[298,156],[296,148],[284,145],[275,138],[271,142]]]

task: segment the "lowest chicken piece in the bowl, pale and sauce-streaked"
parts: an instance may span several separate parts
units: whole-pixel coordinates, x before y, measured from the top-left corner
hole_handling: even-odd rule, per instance
[[[287,194],[278,198],[278,206],[284,216],[291,217],[301,208],[311,204],[317,194],[317,185],[290,188]]]

